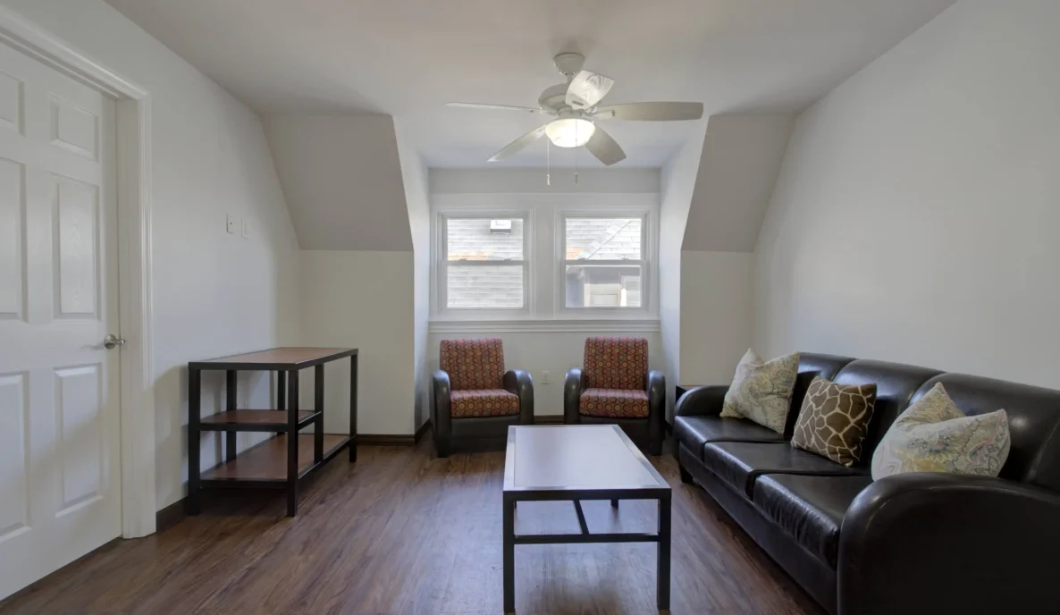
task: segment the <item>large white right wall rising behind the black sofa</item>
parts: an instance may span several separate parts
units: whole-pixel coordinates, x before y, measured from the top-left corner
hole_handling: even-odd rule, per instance
[[[961,0],[799,119],[756,346],[1060,386],[1060,2]]]

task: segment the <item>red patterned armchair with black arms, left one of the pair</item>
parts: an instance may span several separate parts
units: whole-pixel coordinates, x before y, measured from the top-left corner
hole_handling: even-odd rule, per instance
[[[461,441],[504,442],[509,425],[533,422],[533,382],[505,371],[499,339],[443,339],[440,355],[430,406],[439,457]]]

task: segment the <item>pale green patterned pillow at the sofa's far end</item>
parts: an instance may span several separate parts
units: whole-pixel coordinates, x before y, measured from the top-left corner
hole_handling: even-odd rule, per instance
[[[748,350],[736,368],[721,416],[750,419],[783,434],[797,375],[797,352],[763,362],[758,353]]]

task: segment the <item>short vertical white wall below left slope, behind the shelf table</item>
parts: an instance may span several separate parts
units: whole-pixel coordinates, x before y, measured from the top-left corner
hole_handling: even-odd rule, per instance
[[[304,250],[299,295],[305,345],[358,350],[357,433],[412,434],[412,252]],[[312,370],[302,374],[310,403]],[[349,363],[329,364],[324,381],[324,429],[348,433]]]

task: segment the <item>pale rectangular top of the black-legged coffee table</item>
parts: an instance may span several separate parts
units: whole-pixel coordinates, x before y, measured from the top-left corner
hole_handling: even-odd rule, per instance
[[[506,492],[670,491],[618,425],[513,425]]]

